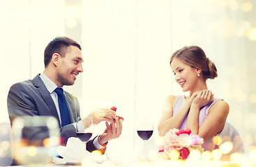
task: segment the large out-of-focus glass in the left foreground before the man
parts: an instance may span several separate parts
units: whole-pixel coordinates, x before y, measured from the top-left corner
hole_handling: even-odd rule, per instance
[[[19,165],[46,166],[57,156],[59,123],[52,116],[23,116],[13,121],[14,158]]]

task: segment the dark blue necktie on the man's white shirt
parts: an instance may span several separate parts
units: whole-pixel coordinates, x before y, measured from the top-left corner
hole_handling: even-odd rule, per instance
[[[59,111],[61,113],[61,127],[68,125],[71,123],[70,121],[70,114],[68,111],[68,105],[66,102],[66,98],[63,94],[62,88],[56,88],[55,92],[58,95],[58,102],[59,102]]]

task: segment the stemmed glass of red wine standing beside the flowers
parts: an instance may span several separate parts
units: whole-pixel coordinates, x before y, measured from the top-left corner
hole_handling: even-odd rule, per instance
[[[147,161],[147,149],[146,149],[146,141],[151,138],[153,134],[153,122],[149,116],[141,117],[142,119],[137,120],[136,129],[137,134],[144,141],[144,160]]]

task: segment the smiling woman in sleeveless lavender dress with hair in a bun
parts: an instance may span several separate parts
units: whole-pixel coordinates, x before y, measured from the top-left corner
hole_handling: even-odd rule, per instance
[[[204,138],[204,150],[213,150],[217,145],[212,142],[213,136],[229,136],[233,140],[232,152],[243,152],[243,143],[237,140],[238,132],[226,122],[229,105],[214,98],[206,85],[207,79],[218,76],[214,63],[206,58],[204,51],[197,46],[183,47],[172,54],[170,60],[175,81],[183,92],[189,95],[167,97],[163,114],[158,125],[160,136],[170,129],[190,129],[192,134]],[[236,141],[234,141],[236,140]]]

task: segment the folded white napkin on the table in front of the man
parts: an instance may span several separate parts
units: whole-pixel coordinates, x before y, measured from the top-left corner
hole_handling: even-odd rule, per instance
[[[53,157],[55,164],[81,163],[89,154],[89,152],[86,151],[86,144],[75,137],[68,138],[66,147],[60,145],[57,148],[57,153],[63,157],[63,159]]]

